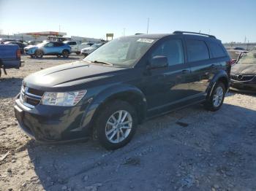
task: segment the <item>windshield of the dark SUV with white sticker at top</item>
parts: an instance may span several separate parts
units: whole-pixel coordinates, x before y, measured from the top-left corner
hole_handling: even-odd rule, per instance
[[[110,63],[113,66],[131,67],[151,47],[154,39],[121,37],[102,45],[83,61]]]

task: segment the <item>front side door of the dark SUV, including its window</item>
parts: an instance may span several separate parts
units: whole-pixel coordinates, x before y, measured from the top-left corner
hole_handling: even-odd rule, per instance
[[[149,115],[174,109],[189,97],[191,71],[185,63],[183,40],[165,39],[152,50],[149,59],[157,55],[165,55],[168,66],[151,69],[144,77]]]

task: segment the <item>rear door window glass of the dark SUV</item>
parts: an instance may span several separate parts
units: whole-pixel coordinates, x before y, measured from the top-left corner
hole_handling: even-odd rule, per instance
[[[187,54],[189,62],[208,59],[209,52],[206,42],[201,40],[187,40]]]

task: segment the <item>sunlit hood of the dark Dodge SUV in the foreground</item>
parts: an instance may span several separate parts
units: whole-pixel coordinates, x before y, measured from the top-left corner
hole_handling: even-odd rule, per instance
[[[57,87],[76,88],[75,85],[85,84],[97,79],[111,77],[116,72],[125,70],[113,66],[89,64],[84,61],[66,63],[37,71],[24,79],[24,85],[40,90]],[[122,72],[121,72],[122,73]]]

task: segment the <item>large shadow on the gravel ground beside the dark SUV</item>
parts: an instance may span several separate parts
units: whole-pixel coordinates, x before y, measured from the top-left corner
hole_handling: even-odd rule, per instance
[[[255,111],[240,106],[224,104],[218,112],[194,106],[145,122],[126,147],[115,151],[91,140],[30,141],[27,149],[45,190],[211,190],[214,184],[253,190],[255,123]]]

